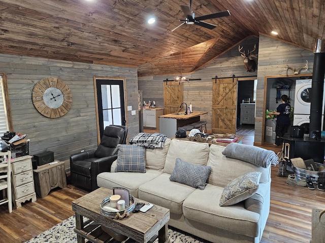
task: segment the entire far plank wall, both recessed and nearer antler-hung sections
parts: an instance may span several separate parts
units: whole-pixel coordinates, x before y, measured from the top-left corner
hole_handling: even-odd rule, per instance
[[[262,143],[262,131],[264,120],[264,85],[265,76],[283,76],[286,75],[286,60],[293,67],[300,67],[308,60],[309,69],[306,73],[312,73],[313,58],[312,52],[292,46],[276,39],[260,35],[259,38],[251,37],[245,39],[240,46],[243,50],[250,49],[256,44],[257,70],[255,72],[246,72],[243,64],[243,58],[238,52],[238,46],[213,60],[197,72],[189,74],[190,78],[201,78],[199,81],[190,81],[184,84],[184,102],[192,103],[193,110],[207,111],[207,115],[201,117],[207,120],[207,130],[211,130],[211,112],[212,112],[212,77],[236,76],[257,76],[257,95],[256,95],[256,117],[255,117],[255,143]],[[243,51],[242,50],[242,51]],[[258,55],[257,55],[258,54]],[[257,61],[258,58],[258,61]],[[288,73],[290,74],[290,73]],[[155,89],[157,95],[161,93],[163,97],[163,85],[160,85],[164,79],[172,79],[173,76],[153,76],[138,77],[139,87],[143,91],[144,97],[150,97],[152,89]],[[154,87],[150,86],[149,81]],[[244,81],[243,81],[244,82]],[[150,88],[149,88],[150,87]],[[159,90],[159,91],[158,91]],[[158,98],[155,97],[156,100]]]

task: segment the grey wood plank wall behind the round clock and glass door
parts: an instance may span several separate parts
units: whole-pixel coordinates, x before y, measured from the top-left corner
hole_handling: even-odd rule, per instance
[[[139,132],[136,68],[0,54],[0,71],[7,73],[14,131],[27,134],[31,155],[49,150],[63,161],[97,147],[93,76],[126,78],[126,102],[136,110],[126,111],[128,136]],[[60,76],[72,91],[72,108],[60,118],[45,117],[32,104],[32,88],[49,76]]]

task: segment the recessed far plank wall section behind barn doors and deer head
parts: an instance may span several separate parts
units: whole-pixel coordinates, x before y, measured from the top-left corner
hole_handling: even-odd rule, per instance
[[[256,50],[258,50],[258,38],[251,37],[243,41],[241,46],[244,46],[244,49],[252,50],[254,44],[256,44]],[[190,78],[201,78],[201,80],[193,80],[184,84],[184,102],[187,105],[191,103],[193,110],[208,112],[208,114],[201,116],[201,120],[208,122],[207,130],[209,131],[211,131],[212,124],[212,77],[216,75],[218,77],[230,77],[233,74],[236,76],[257,75],[256,71],[246,72],[243,58],[238,52],[238,46],[213,60],[202,69],[188,75]],[[156,95],[161,94],[161,97],[163,97],[163,80],[166,78],[173,80],[174,75],[138,77],[139,89],[143,91],[143,97],[152,97],[153,92]],[[159,100],[157,97],[154,98]],[[161,104],[164,104],[163,101]]]

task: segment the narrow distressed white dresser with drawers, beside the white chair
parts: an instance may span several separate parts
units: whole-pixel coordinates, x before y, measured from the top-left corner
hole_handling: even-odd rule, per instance
[[[27,200],[36,201],[30,155],[14,158],[12,166],[12,200],[16,209]]]

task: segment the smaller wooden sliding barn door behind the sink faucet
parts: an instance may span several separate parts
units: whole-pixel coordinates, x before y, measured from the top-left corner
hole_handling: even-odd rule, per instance
[[[164,82],[164,113],[170,114],[179,111],[183,102],[183,83]]]

